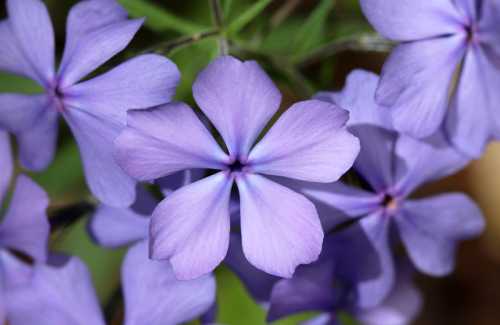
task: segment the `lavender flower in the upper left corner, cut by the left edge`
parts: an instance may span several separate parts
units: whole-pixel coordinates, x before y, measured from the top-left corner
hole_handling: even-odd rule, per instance
[[[0,70],[29,77],[45,90],[0,95],[0,127],[17,135],[21,163],[41,170],[51,162],[60,115],[76,138],[92,193],[111,205],[130,205],[135,181],[114,162],[112,143],[127,109],[170,101],[179,80],[176,66],[158,55],[142,55],[81,81],[123,50],[142,20],[128,20],[114,0],[81,1],[69,13],[56,71],[54,33],[43,2],[8,0],[7,11],[8,20],[0,22]]]

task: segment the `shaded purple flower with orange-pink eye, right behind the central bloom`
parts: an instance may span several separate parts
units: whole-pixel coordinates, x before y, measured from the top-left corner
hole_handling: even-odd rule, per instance
[[[296,187],[313,201],[330,206],[330,217],[341,212],[344,218],[359,222],[379,252],[384,275],[365,283],[365,290],[380,291],[384,296],[394,282],[393,233],[419,271],[442,276],[453,269],[457,244],[478,236],[484,220],[476,204],[461,193],[410,198],[420,185],[452,174],[467,160],[439,134],[423,141],[392,131],[373,102],[377,83],[376,75],[354,71],[344,90],[329,96],[351,114],[349,129],[362,143],[354,169],[370,190],[341,183],[296,183]],[[323,93],[321,98],[327,95]]]

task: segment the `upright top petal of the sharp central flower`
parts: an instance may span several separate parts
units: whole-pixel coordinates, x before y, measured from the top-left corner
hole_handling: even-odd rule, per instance
[[[248,154],[281,102],[278,88],[256,62],[231,56],[214,60],[198,75],[193,96],[235,157]]]

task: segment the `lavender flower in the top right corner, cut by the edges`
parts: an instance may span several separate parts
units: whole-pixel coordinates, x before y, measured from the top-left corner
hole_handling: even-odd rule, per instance
[[[392,108],[396,129],[423,138],[444,123],[457,148],[480,156],[500,134],[500,3],[362,0],[361,6],[378,32],[401,42],[376,92],[377,102]]]

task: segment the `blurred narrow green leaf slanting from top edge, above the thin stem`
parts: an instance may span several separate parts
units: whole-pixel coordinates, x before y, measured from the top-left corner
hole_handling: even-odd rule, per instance
[[[333,8],[333,0],[321,0],[293,39],[294,57],[299,57],[321,43],[324,26]]]

